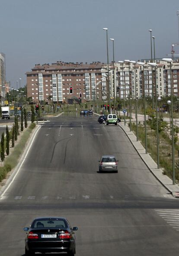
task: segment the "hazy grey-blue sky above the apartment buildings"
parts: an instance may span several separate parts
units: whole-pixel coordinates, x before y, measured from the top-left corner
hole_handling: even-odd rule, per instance
[[[179,0],[0,0],[0,52],[6,81],[26,85],[35,64],[107,62],[106,32],[114,38],[115,61],[150,59],[150,32],[156,58],[179,42]],[[113,59],[109,40],[109,61]],[[179,53],[179,46],[175,47]],[[170,57],[170,56],[169,56]],[[18,82],[19,85],[19,82]]]

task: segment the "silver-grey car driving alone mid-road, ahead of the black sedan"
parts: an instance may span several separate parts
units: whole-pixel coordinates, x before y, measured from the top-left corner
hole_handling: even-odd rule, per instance
[[[118,161],[115,156],[105,155],[99,160],[99,172],[101,171],[115,171],[118,172]]]

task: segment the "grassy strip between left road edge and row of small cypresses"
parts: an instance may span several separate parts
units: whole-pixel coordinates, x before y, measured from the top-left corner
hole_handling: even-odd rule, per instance
[[[13,152],[6,157],[4,161],[4,166],[0,167],[0,181],[2,181],[6,174],[11,171],[18,164],[19,156],[24,151],[26,142],[28,141],[32,130],[35,128],[35,123],[32,123],[29,128],[27,128],[20,138],[20,141],[15,145]]]

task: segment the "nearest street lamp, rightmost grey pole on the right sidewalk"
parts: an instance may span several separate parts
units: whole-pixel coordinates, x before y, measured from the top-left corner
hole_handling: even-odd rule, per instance
[[[170,58],[163,58],[163,61],[169,62],[170,66],[170,90],[171,90],[171,125],[172,125],[172,171],[173,171],[173,185],[175,184],[175,148],[174,148],[174,131],[173,131],[173,81],[172,81],[172,62]],[[168,103],[169,104],[169,103]]]

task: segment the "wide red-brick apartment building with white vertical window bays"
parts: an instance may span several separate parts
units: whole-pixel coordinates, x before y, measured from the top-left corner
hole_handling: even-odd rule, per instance
[[[67,102],[80,98],[82,102],[105,98],[106,64],[93,62],[56,62],[37,64],[27,76],[27,97],[33,102]]]

